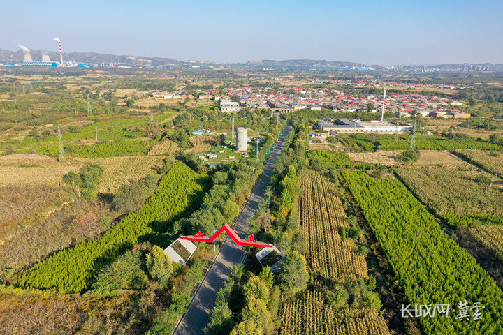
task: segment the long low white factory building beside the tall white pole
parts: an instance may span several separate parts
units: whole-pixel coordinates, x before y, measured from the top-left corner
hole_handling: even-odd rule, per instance
[[[319,131],[326,131],[330,134],[337,133],[394,133],[397,126],[391,122],[370,121],[361,122],[360,120],[349,121],[347,119],[335,119],[331,122],[323,121],[316,125]],[[410,131],[412,126],[404,124],[398,126],[398,132]]]

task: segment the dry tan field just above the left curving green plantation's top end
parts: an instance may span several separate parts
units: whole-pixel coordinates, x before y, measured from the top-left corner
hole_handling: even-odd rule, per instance
[[[96,163],[103,168],[96,191],[115,193],[117,188],[128,181],[138,181],[148,174],[156,173],[161,167],[162,156],[122,156],[107,158],[79,158],[82,163]]]

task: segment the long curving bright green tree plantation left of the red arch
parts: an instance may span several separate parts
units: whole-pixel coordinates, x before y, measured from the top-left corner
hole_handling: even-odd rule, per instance
[[[101,267],[139,241],[165,232],[170,223],[193,211],[201,201],[206,183],[207,177],[196,174],[181,162],[175,163],[143,207],[126,216],[101,237],[37,263],[20,278],[19,284],[63,292],[89,289]]]

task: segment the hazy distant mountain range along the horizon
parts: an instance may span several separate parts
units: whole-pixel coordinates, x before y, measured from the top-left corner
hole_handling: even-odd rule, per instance
[[[59,60],[58,52],[48,52],[52,61]],[[42,50],[31,50],[31,57],[34,61],[41,61]],[[68,52],[64,53],[65,60],[73,60],[83,64],[124,64],[124,65],[150,65],[150,66],[244,66],[250,68],[374,68],[383,69],[384,66],[361,64],[351,61],[326,61],[312,59],[287,59],[284,61],[274,60],[256,60],[247,61],[247,63],[227,63],[219,64],[211,61],[179,61],[164,57],[138,57],[138,56],[117,56],[115,54],[100,54],[97,52]],[[0,49],[0,64],[21,64],[23,52]],[[467,63],[466,63],[467,64]],[[464,64],[439,64],[428,65],[429,69],[437,70],[455,70],[461,68]],[[503,71],[503,64],[467,64],[472,66],[489,67],[490,70]],[[404,66],[402,68],[422,68],[422,66]]]

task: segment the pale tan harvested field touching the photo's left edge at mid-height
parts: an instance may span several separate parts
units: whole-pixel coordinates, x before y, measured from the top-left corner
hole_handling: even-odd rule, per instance
[[[0,186],[62,186],[63,176],[78,172],[82,163],[36,154],[16,154],[0,157]]]

